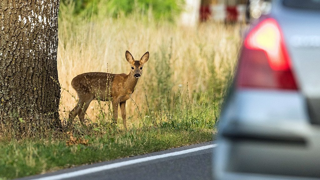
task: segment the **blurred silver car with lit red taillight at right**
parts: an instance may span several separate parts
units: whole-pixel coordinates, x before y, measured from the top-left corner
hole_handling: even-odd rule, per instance
[[[320,178],[320,0],[274,0],[244,37],[216,180]]]

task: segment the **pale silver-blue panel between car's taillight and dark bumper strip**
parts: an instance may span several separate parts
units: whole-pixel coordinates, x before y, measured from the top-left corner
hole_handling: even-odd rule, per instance
[[[308,123],[304,96],[297,91],[235,90],[227,100],[220,123],[229,119],[247,123],[276,124],[282,121]]]

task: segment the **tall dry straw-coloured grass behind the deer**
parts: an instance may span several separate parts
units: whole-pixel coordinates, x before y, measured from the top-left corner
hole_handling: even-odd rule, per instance
[[[136,60],[150,52],[132,94],[140,111],[147,109],[146,95],[152,108],[159,101],[157,98],[168,94],[166,91],[186,93],[187,85],[191,102],[204,93],[221,97],[239,50],[240,25],[210,22],[189,28],[140,15],[81,20],[63,7],[60,16],[59,82],[74,96],[71,80],[76,75],[92,71],[128,74],[130,65],[125,60],[125,51],[129,50]],[[76,104],[69,93],[63,90],[61,94],[61,118],[67,118]],[[126,109],[129,126],[139,123],[132,101],[127,101]],[[97,101],[91,102],[87,113],[93,121],[97,118]]]

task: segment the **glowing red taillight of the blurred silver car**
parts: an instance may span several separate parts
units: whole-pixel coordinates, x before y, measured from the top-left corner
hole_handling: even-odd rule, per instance
[[[298,89],[283,35],[276,20],[262,20],[245,38],[237,69],[236,86]]]

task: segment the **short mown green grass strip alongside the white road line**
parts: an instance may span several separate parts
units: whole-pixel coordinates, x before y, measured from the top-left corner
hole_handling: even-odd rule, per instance
[[[112,127],[104,135],[56,139],[24,139],[0,142],[0,179],[11,179],[81,164],[114,160],[182,145],[212,140],[209,130],[179,130],[168,127],[132,128],[120,131]],[[67,145],[74,143],[73,145]]]

